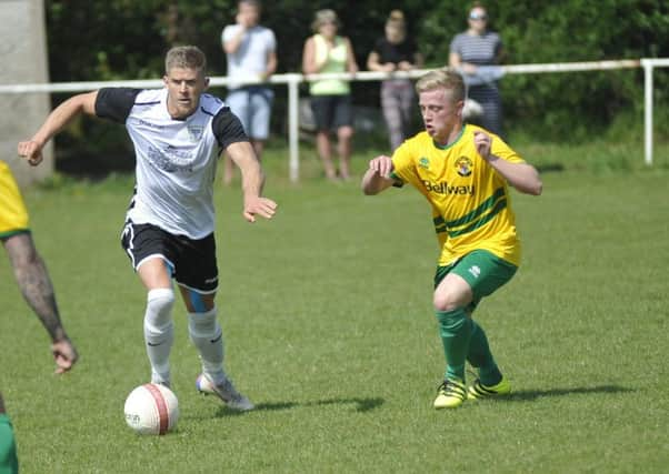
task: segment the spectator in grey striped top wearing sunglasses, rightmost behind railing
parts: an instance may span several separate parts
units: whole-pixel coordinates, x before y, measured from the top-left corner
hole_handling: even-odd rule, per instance
[[[449,65],[456,68],[468,83],[468,98],[483,109],[481,125],[502,135],[502,107],[497,79],[505,51],[500,36],[488,30],[488,12],[480,2],[469,10],[469,28],[457,34],[450,44]]]

